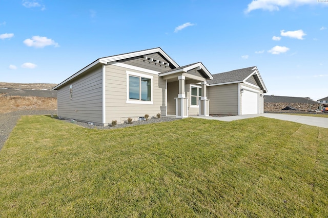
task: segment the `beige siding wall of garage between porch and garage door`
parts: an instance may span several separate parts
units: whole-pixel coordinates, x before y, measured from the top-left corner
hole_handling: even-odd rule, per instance
[[[238,115],[238,84],[207,87],[210,114]]]

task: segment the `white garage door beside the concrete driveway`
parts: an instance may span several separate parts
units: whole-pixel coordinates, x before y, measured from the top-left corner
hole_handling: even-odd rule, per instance
[[[249,90],[243,91],[241,94],[241,114],[257,114],[258,113],[258,93]]]

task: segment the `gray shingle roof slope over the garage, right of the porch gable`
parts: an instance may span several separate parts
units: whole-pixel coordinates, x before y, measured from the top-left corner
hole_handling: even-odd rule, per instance
[[[220,74],[214,74],[213,80],[208,81],[208,84],[219,84],[219,83],[228,83],[228,82],[237,82],[243,81],[246,79],[250,74],[254,72],[255,66],[236,69],[229,72],[221,72]]]

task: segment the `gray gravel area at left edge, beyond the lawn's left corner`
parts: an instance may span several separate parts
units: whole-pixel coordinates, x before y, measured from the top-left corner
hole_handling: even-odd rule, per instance
[[[23,110],[0,114],[0,150],[22,115],[57,114],[56,110]]]

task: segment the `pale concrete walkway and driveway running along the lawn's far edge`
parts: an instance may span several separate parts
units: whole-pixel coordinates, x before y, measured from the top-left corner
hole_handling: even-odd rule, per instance
[[[291,121],[300,124],[306,124],[310,126],[328,128],[328,118],[325,117],[314,117],[314,116],[299,116],[299,115],[288,115],[288,114],[275,114],[275,113],[262,113],[262,114],[248,114],[248,115],[236,115],[236,116],[190,116],[194,118],[203,118],[203,119],[215,119],[221,121],[233,121],[237,119],[247,119],[252,117],[264,116],[273,119],[281,119],[286,121]]]

